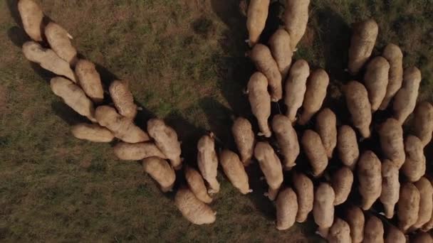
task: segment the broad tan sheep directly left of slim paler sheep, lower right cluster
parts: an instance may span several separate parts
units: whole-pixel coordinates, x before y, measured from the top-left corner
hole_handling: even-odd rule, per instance
[[[358,161],[358,180],[362,210],[369,210],[382,193],[381,163],[372,151],[362,153]]]

